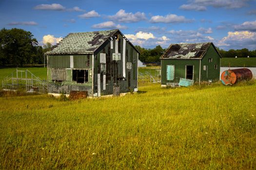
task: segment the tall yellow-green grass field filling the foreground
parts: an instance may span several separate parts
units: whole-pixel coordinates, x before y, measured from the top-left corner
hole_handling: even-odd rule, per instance
[[[139,90],[1,97],[0,169],[256,169],[253,81]]]

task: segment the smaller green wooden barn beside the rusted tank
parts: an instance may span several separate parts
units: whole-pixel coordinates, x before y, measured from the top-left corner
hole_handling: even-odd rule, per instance
[[[212,42],[171,44],[161,59],[161,86],[177,85],[180,78],[218,81],[221,55]]]

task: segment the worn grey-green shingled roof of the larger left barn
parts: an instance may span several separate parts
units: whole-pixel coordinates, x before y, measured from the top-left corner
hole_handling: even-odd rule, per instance
[[[59,42],[56,48],[54,48],[52,51],[46,52],[45,54],[92,54],[117,32],[124,37],[124,35],[118,29],[85,33],[70,33]],[[124,38],[126,41],[128,41],[126,37]],[[138,50],[136,49],[136,51]]]

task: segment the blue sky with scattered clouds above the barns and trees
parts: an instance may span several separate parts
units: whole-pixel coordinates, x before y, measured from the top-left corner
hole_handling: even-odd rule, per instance
[[[40,45],[118,28],[144,48],[211,41],[256,50],[256,0],[0,0],[0,28],[30,31]]]

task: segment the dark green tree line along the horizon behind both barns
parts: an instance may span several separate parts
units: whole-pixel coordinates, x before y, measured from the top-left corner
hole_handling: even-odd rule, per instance
[[[51,43],[46,43],[40,46],[38,40],[34,38],[31,32],[13,28],[0,30],[0,66],[22,66],[24,64],[43,64],[44,53],[53,49]],[[139,60],[142,62],[160,62],[160,56],[166,49],[160,45],[154,49],[146,49],[140,46],[135,46],[140,51]],[[224,51],[218,49],[223,58],[225,57],[256,57],[256,50],[249,51],[244,48],[241,50]]]

